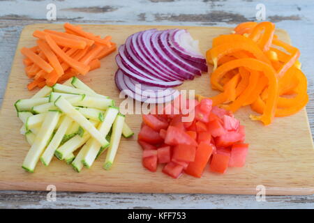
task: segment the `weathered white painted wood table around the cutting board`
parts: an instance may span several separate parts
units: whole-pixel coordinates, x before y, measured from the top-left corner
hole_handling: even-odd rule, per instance
[[[310,95],[306,108],[314,132],[313,0],[0,0],[0,105],[20,32],[27,24],[47,23],[48,3],[57,6],[55,22],[59,23],[176,26],[234,26],[255,20],[257,3],[264,3],[267,20],[286,29],[301,50]],[[257,202],[253,195],[221,194],[57,192],[55,202],[48,202],[46,196],[47,192],[2,191],[0,208],[314,208],[313,195],[267,196],[265,202]]]

